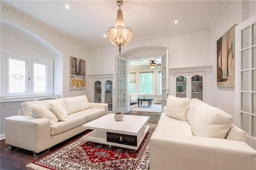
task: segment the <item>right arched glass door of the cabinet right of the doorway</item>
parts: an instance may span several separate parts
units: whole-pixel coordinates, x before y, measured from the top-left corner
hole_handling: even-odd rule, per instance
[[[203,77],[195,75],[191,77],[191,99],[203,101]]]

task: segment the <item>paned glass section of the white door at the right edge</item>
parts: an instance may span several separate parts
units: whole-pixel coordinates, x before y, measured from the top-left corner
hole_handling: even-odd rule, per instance
[[[249,136],[255,137],[255,95],[256,95],[256,65],[255,36],[256,23],[241,30],[240,71],[241,71],[241,127]]]

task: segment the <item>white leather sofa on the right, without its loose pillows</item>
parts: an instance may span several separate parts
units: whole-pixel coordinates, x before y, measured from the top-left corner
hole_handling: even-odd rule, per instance
[[[188,122],[165,113],[166,107],[150,139],[151,170],[256,169],[256,151],[243,130],[232,125],[225,139],[194,136]]]

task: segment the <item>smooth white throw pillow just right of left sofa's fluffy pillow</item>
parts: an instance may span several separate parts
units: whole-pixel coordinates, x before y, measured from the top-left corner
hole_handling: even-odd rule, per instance
[[[55,114],[59,121],[68,120],[68,112],[57,102],[50,103],[50,110]]]

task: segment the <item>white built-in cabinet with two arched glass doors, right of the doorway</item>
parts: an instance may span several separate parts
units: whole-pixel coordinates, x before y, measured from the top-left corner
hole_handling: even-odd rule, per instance
[[[182,72],[174,74],[175,93],[178,98],[199,99],[205,102],[205,72]]]

